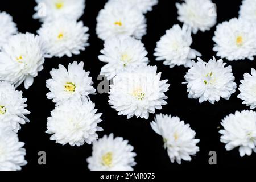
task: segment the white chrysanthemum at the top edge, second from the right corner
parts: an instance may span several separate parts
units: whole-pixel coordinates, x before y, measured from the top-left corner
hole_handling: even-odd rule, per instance
[[[217,21],[216,5],[211,0],[185,0],[176,3],[178,20],[192,28],[193,34],[198,30],[210,30]]]

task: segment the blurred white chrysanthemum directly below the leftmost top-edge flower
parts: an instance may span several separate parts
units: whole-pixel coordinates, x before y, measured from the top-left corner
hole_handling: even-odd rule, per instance
[[[84,51],[89,39],[89,28],[76,20],[57,19],[42,24],[38,34],[42,37],[47,53],[51,56],[63,57],[79,55]]]

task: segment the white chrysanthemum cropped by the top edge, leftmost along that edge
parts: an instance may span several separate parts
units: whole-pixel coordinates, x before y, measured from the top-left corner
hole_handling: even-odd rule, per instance
[[[85,0],[36,0],[34,19],[50,22],[60,18],[77,20],[84,14]]]

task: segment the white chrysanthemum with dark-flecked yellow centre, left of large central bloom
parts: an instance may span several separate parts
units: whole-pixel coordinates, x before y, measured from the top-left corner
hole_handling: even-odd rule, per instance
[[[59,69],[52,69],[52,79],[46,81],[50,92],[47,98],[52,99],[57,105],[70,100],[89,100],[89,94],[94,94],[90,72],[84,70],[84,62],[69,63],[68,69],[59,64]]]

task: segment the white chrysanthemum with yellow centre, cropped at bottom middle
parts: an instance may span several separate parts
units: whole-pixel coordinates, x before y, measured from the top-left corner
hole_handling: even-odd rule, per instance
[[[93,142],[92,156],[87,158],[91,171],[133,171],[136,165],[134,147],[113,133]]]

